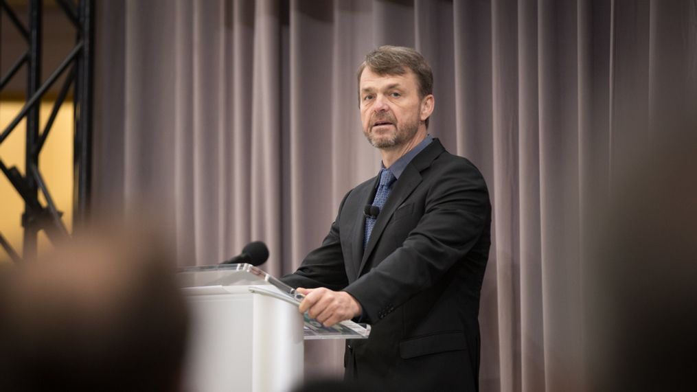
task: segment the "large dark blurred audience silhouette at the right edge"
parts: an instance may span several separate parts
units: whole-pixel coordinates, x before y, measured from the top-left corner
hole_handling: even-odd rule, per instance
[[[585,275],[589,391],[697,391],[697,127],[634,155]]]

